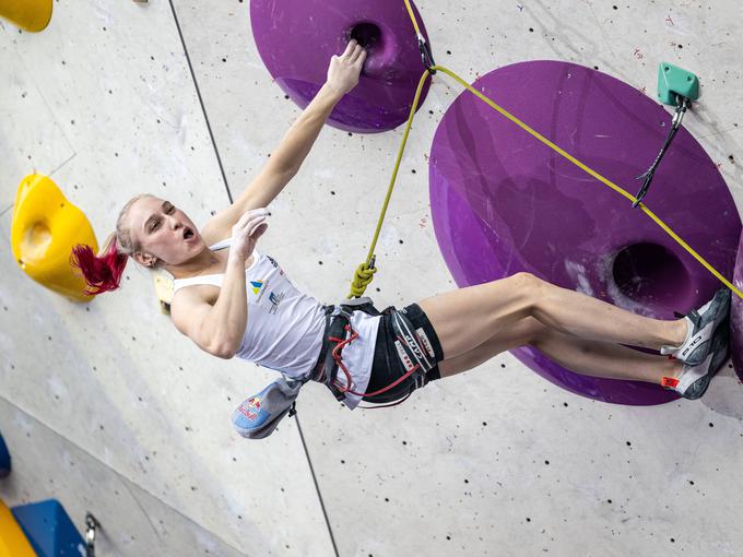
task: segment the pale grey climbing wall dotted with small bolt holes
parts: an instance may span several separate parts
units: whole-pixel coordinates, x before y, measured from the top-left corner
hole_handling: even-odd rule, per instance
[[[471,80],[559,59],[652,95],[660,60],[696,72],[703,97],[684,126],[743,200],[739,2],[417,5],[437,61]],[[623,407],[503,354],[392,410],[349,412],[310,384],[302,430],[287,419],[247,441],[231,413],[272,375],[200,352],[160,313],[146,272],[131,265],[87,306],[22,273],[11,209],[34,169],[99,239],[134,193],[203,223],[259,170],[299,110],[258,56],[248,0],[56,1],[40,34],[0,22],[0,83],[7,503],[57,497],[78,525],[93,511],[104,557],[743,553],[743,387],[728,367],[701,401]],[[459,92],[436,76],[415,120],[369,289],[380,307],[455,287],[426,154]],[[262,250],[322,300],[345,294],[366,254],[400,138],[326,128],[272,206]]]

